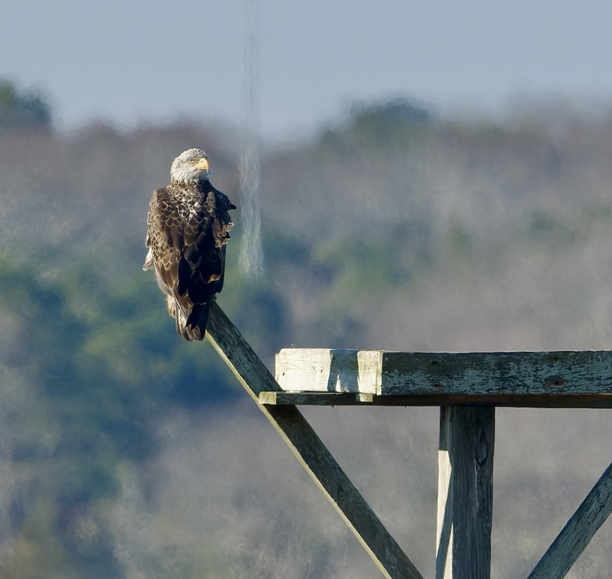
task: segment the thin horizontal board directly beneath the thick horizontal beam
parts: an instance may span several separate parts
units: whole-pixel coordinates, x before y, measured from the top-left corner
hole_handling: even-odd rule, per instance
[[[367,397],[360,399],[359,397]],[[346,392],[262,392],[259,404],[313,406],[499,406],[612,408],[612,394],[359,394]]]

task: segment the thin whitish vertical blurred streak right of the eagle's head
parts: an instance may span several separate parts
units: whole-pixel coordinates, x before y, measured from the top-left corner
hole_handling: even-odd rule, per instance
[[[244,125],[240,158],[241,271],[256,280],[263,274],[259,213],[259,39],[256,0],[245,0]]]

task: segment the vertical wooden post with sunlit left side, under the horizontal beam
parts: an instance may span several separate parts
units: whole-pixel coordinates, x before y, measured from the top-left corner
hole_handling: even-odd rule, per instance
[[[490,579],[495,408],[440,408],[436,579]]]

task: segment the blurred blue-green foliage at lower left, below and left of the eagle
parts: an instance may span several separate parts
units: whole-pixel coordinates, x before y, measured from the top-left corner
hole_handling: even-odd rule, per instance
[[[168,408],[231,396],[228,372],[208,344],[188,349],[175,339],[140,268],[108,280],[83,259],[37,278],[45,265],[34,256],[26,263],[0,259],[0,309],[24,328],[20,367],[35,391],[32,407],[17,409],[24,427],[13,432],[12,461],[32,474],[14,520],[17,545],[0,569],[15,579],[42,569],[118,577],[104,515],[118,498],[118,465],[155,455]]]

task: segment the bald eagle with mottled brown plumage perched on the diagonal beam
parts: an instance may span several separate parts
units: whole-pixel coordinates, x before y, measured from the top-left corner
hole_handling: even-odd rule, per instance
[[[201,149],[174,159],[170,177],[170,185],[151,197],[143,270],[154,268],[176,331],[191,342],[203,339],[211,301],[223,288],[225,244],[233,226],[228,212],[236,205],[209,182]]]

